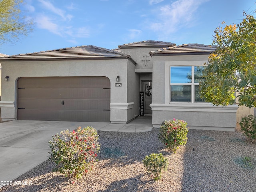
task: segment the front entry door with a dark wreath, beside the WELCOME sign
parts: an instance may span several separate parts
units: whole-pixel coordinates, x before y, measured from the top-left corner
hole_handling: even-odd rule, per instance
[[[142,91],[144,92],[144,114],[152,114],[149,105],[152,103],[153,92],[150,88],[153,88],[152,80],[142,82]]]

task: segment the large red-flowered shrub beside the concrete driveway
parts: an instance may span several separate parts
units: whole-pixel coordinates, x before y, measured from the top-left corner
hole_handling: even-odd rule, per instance
[[[81,178],[92,169],[100,150],[97,131],[92,127],[63,130],[49,141],[50,159],[65,176]]]

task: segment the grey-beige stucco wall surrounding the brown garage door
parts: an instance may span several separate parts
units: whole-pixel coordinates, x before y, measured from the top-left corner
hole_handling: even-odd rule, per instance
[[[134,89],[128,80],[139,84],[134,72],[135,65],[128,59],[110,60],[64,60],[64,61],[4,61],[2,64],[3,76],[9,76],[9,81],[2,84],[2,120],[16,119],[16,82],[20,77],[47,77],[47,76],[106,76],[110,80],[110,121],[126,123],[136,113],[139,96],[129,96],[128,92]],[[128,77],[127,69],[133,74]],[[116,87],[116,76],[120,76],[121,87]],[[138,81],[138,82],[136,82]],[[129,85],[128,85],[129,84]],[[129,112],[128,112],[129,111]]]

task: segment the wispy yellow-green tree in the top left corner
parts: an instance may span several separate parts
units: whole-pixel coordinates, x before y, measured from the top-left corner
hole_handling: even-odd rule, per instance
[[[14,42],[32,30],[32,22],[20,9],[23,0],[0,0],[0,44]]]

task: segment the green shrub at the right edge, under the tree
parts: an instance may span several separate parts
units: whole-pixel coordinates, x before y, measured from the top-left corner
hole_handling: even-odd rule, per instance
[[[247,115],[241,118],[239,122],[243,135],[246,136],[248,142],[253,143],[256,141],[256,117]]]

